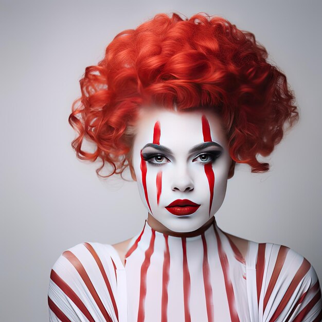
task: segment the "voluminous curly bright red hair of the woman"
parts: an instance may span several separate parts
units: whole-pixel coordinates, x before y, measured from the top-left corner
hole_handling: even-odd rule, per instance
[[[106,176],[121,174],[140,106],[210,107],[222,119],[231,158],[252,172],[267,171],[258,155],[268,156],[298,120],[287,78],[267,56],[253,33],[222,17],[157,14],[117,34],[103,60],[86,67],[69,116],[78,132],[71,145],[80,159],[102,160],[98,175],[105,163],[112,166]],[[95,152],[82,149],[84,139]]]

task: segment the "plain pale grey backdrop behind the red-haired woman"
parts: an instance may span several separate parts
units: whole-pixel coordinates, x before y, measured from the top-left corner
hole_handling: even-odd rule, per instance
[[[320,1],[1,1],[1,321],[48,320],[50,269],[67,248],[136,235],[136,183],[80,162],[67,118],[79,79],[114,36],[156,13],[207,12],[255,33],[288,76],[300,122],[268,158],[240,165],[216,214],[224,231],[293,248],[322,281]],[[129,177],[129,175],[128,175]]]

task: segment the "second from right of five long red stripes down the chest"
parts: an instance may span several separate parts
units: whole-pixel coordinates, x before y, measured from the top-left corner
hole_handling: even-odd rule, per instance
[[[208,322],[212,322],[213,321],[212,288],[211,288],[211,282],[210,282],[210,269],[209,269],[209,262],[208,262],[207,242],[206,242],[204,232],[202,233],[201,238],[202,238],[202,244],[204,247],[202,273],[203,273],[203,278],[204,278],[207,317],[208,317]]]

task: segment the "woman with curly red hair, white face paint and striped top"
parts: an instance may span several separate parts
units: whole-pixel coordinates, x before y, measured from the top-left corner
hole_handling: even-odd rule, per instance
[[[148,219],[115,245],[83,243],[50,275],[50,321],[320,321],[312,265],[223,232],[236,163],[252,172],[298,113],[253,34],[221,17],[159,14],[87,67],[69,121],[78,157],[129,166]],[[94,141],[93,153],[81,149]],[[100,167],[98,172],[102,169]]]

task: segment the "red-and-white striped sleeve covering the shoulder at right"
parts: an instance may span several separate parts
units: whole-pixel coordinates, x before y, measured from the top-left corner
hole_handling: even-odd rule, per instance
[[[257,245],[256,282],[264,320],[320,321],[321,292],[311,263],[287,246]]]

